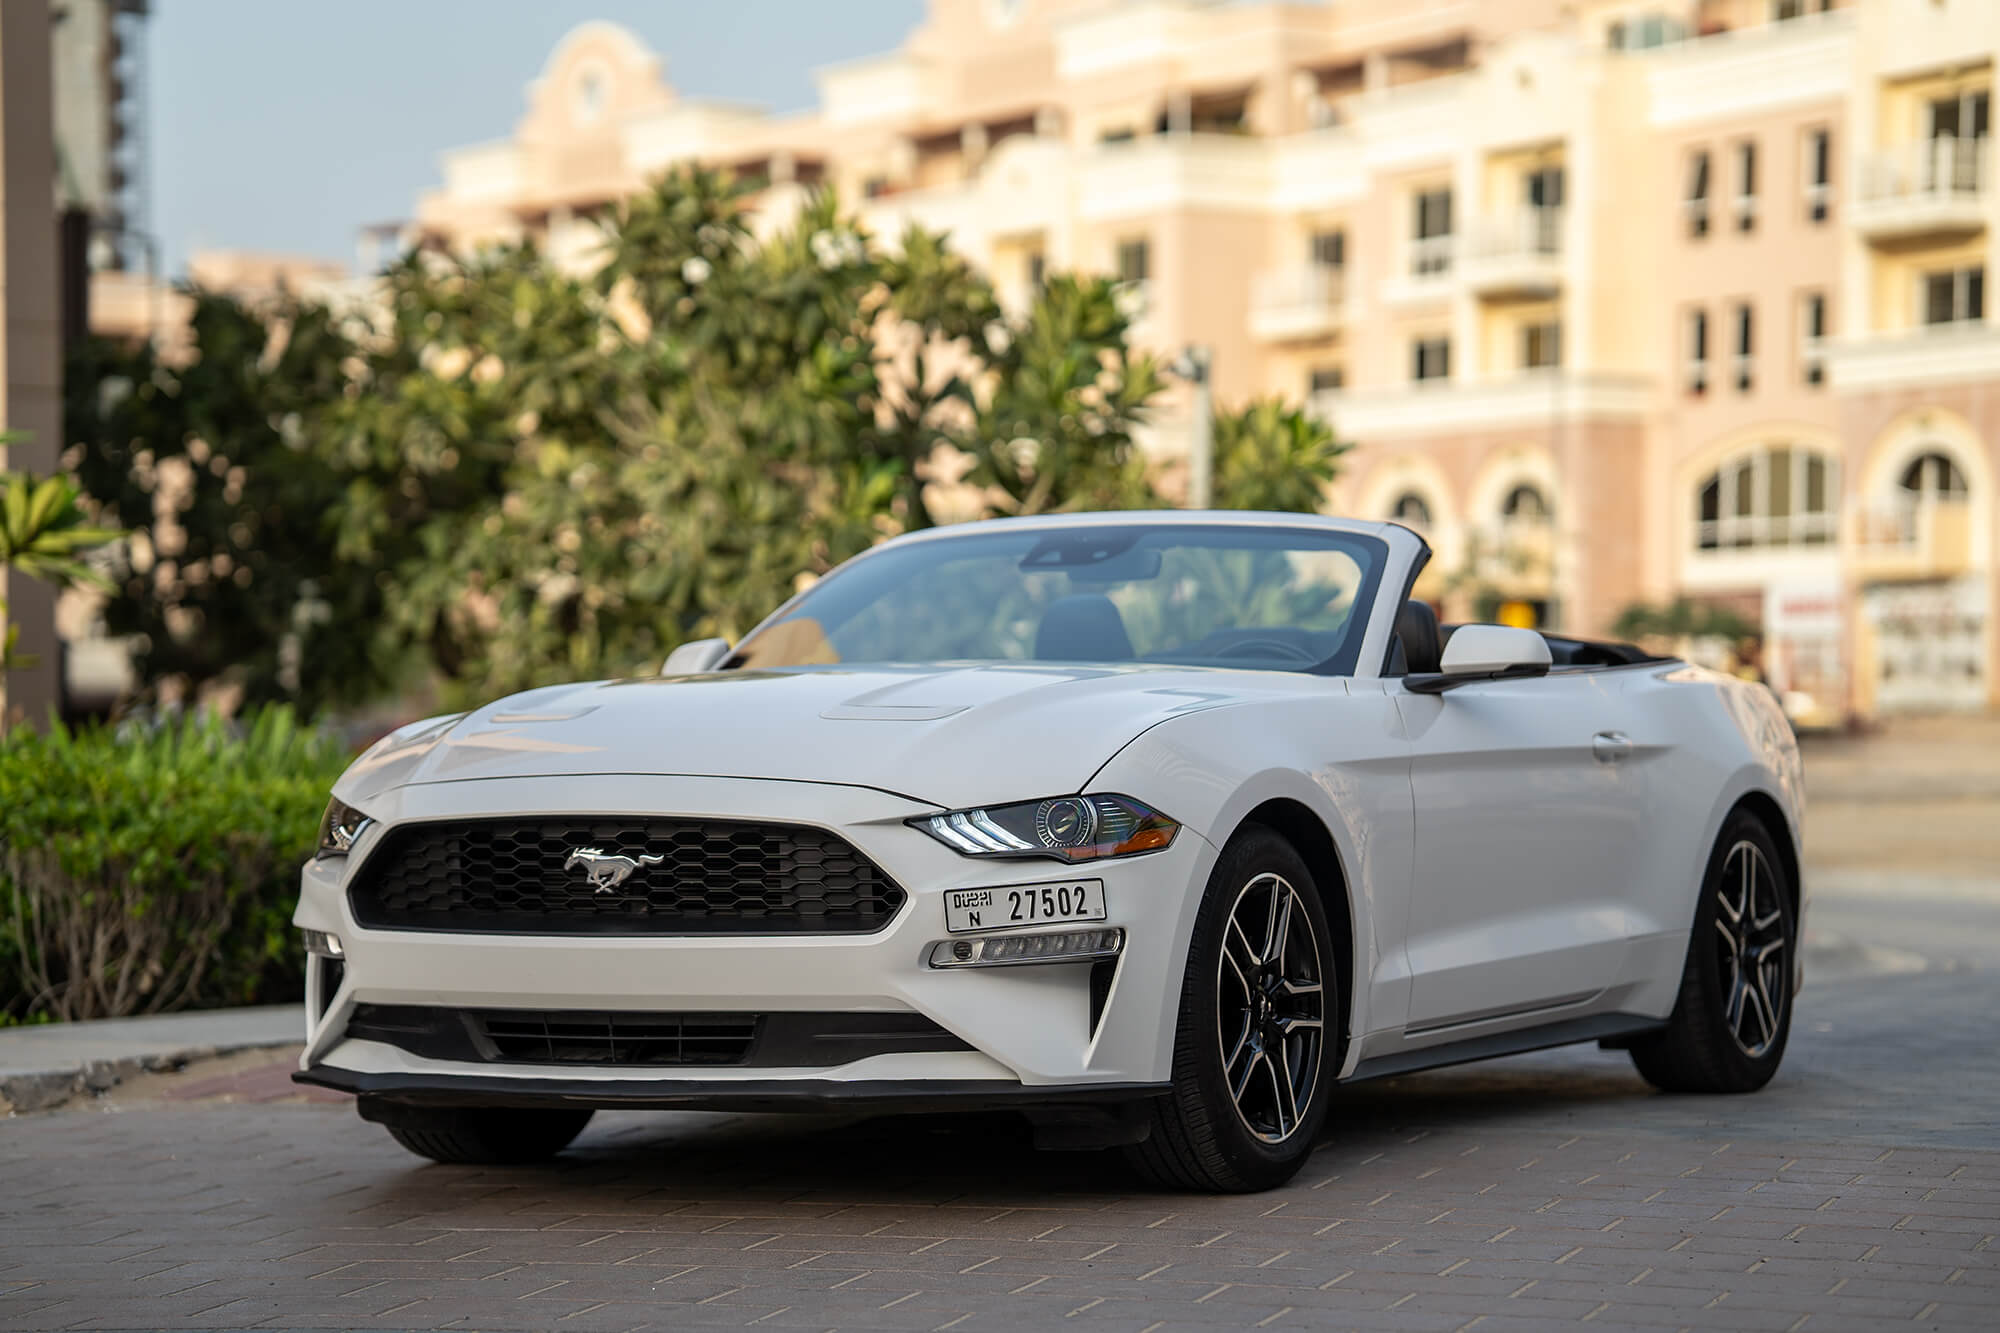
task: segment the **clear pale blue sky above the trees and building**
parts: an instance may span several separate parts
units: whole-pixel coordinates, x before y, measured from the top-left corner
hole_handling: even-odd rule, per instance
[[[564,32],[630,28],[682,94],[812,106],[812,70],[898,46],[922,0],[154,0],[152,228],[190,250],[354,262],[446,148],[506,138]]]

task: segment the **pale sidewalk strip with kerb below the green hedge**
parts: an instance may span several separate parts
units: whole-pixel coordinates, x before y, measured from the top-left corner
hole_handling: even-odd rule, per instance
[[[0,1113],[46,1111],[188,1061],[304,1041],[298,1005],[0,1029]]]

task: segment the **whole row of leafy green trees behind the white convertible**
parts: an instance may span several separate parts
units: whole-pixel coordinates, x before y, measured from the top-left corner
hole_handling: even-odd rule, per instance
[[[1156,502],[1136,432],[1164,380],[1128,332],[1104,278],[1008,312],[938,234],[882,244],[830,194],[754,234],[744,186],[676,170],[582,266],[406,256],[366,328],[202,296],[188,364],[88,352],[72,438],[138,534],[110,622],[146,681],[476,701],[740,636],[936,522],[940,456],[952,516]],[[1314,508],[1338,446],[1256,412],[1220,494]]]

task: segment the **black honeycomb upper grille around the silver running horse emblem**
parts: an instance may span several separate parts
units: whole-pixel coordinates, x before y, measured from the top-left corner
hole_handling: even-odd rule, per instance
[[[580,857],[578,853],[590,853]],[[630,873],[590,877],[590,859]],[[878,931],[902,889],[846,839],[714,821],[454,821],[394,829],[350,891],[368,927],[514,935]]]

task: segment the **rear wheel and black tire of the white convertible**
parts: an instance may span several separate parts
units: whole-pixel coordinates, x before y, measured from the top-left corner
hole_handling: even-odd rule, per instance
[[[1722,825],[1694,909],[1674,1015],[1632,1043],[1662,1093],[1754,1093],[1792,1033],[1794,887],[1770,831],[1742,811]]]

